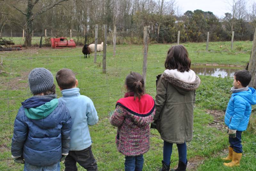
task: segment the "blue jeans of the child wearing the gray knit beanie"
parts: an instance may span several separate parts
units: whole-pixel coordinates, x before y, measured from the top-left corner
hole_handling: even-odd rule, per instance
[[[35,166],[25,162],[24,171],[60,171],[60,162],[49,166]]]

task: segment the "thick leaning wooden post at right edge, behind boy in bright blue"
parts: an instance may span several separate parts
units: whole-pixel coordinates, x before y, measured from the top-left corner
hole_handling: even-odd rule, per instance
[[[256,75],[256,28],[255,28],[254,36],[253,36],[252,52],[251,52],[251,57],[250,57],[249,65],[248,65],[248,71],[252,75],[252,79],[248,86],[253,87],[253,83],[254,83],[255,75]]]

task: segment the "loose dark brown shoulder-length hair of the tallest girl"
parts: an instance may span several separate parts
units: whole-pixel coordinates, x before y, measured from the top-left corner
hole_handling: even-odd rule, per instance
[[[188,51],[183,45],[176,45],[168,50],[164,62],[165,69],[177,69],[180,72],[189,71],[191,61],[188,58]]]

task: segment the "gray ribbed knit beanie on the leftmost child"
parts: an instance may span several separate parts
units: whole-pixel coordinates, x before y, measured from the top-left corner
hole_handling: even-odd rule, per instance
[[[30,91],[33,94],[40,94],[53,86],[53,75],[45,68],[35,68],[28,75]]]

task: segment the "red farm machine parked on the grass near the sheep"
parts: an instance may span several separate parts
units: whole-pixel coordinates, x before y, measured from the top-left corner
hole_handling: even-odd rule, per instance
[[[73,39],[70,41],[66,37],[51,38],[52,48],[76,48],[76,43]]]

